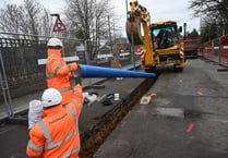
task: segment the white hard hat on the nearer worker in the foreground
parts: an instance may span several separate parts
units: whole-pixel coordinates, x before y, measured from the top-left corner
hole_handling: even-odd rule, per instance
[[[61,104],[62,96],[59,90],[55,88],[48,88],[41,96],[41,104],[44,107],[51,107]]]

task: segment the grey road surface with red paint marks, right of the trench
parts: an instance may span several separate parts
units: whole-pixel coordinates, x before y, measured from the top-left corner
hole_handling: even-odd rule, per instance
[[[228,158],[227,69],[188,60],[182,73],[166,69],[145,96],[151,94],[93,158]]]

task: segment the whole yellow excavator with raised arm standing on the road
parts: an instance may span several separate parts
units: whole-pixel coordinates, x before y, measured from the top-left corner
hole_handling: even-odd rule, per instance
[[[141,57],[142,68],[151,72],[157,64],[172,64],[175,70],[182,72],[185,62],[183,42],[179,41],[182,27],[178,28],[175,21],[149,24],[146,8],[139,4],[137,0],[131,1],[130,5],[127,36],[133,46],[141,46],[141,51],[144,51],[143,58]]]

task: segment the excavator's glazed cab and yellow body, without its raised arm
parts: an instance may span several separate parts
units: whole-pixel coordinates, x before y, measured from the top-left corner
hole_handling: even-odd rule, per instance
[[[183,42],[179,40],[181,29],[176,21],[157,22],[149,25],[151,40],[155,47],[156,64],[172,64],[175,70],[184,66]]]

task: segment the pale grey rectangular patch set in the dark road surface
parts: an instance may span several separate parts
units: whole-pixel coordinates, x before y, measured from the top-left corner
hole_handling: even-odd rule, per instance
[[[157,108],[157,114],[183,118],[183,110],[179,108]]]

